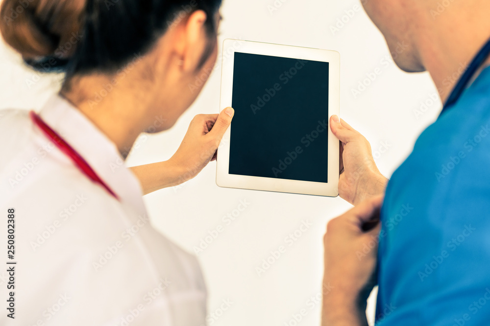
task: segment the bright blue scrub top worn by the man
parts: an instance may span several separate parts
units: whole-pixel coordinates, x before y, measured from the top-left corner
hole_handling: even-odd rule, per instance
[[[490,325],[490,67],[418,137],[381,223],[377,326]]]

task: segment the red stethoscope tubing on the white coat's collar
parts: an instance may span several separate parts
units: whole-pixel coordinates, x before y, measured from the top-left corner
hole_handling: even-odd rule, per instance
[[[119,197],[105,184],[102,179],[95,173],[95,171],[90,167],[90,165],[85,161],[83,157],[80,156],[60,135],[56,133],[56,131],[52,130],[44,121],[41,119],[39,115],[37,115],[34,111],[30,111],[30,117],[34,124],[36,124],[45,135],[53,141],[53,143],[64,152],[68,157],[70,157],[73,163],[80,169],[80,171],[85,174],[92,181],[100,184],[105,190],[109,192],[114,198],[119,200]]]

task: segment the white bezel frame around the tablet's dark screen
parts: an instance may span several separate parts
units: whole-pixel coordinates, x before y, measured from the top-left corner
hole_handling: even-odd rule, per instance
[[[238,44],[238,45],[237,45]],[[233,70],[235,52],[269,55],[284,58],[321,61],[329,63],[328,116],[340,116],[340,54],[336,51],[321,50],[290,45],[259,43],[226,39],[223,42],[221,72],[221,109],[231,107],[233,94]],[[328,183],[267,178],[248,175],[229,174],[230,135],[228,128],[218,149],[216,184],[225,188],[263,190],[280,193],[331,196],[339,195],[339,140],[328,124]],[[251,130],[251,132],[253,132]]]

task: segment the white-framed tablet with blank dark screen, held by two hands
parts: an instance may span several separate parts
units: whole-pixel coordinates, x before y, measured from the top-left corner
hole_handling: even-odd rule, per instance
[[[224,60],[226,58],[226,60]],[[336,51],[225,40],[221,109],[235,115],[217,158],[220,187],[338,196]]]

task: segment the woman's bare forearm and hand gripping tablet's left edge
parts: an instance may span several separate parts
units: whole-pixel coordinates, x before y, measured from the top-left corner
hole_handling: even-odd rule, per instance
[[[196,115],[177,152],[168,161],[131,168],[140,180],[144,195],[184,183],[215,160],[234,113],[232,108],[226,108],[220,114]]]

